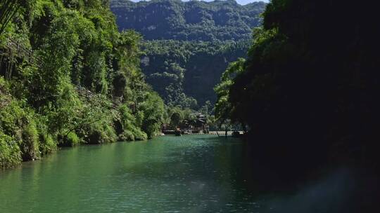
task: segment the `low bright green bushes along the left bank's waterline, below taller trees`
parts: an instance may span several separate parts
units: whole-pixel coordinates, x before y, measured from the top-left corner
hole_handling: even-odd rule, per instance
[[[13,95],[12,83],[0,76],[0,170],[39,160],[62,146],[144,140],[159,131],[159,119],[147,121],[148,115],[149,119],[162,116],[163,111],[157,111],[163,102],[156,95],[148,95],[132,112],[125,103],[113,107],[104,95],[82,97],[68,84],[62,95],[68,95],[70,102],[59,97],[57,107],[37,111]],[[139,123],[137,113],[144,116]]]

